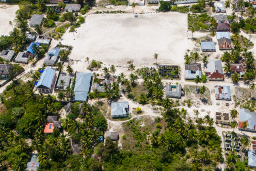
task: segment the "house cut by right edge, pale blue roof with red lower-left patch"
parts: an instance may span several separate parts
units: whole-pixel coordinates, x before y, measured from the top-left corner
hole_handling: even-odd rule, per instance
[[[243,129],[243,122],[248,124],[246,129]],[[256,113],[249,112],[247,109],[240,109],[238,130],[256,132]]]

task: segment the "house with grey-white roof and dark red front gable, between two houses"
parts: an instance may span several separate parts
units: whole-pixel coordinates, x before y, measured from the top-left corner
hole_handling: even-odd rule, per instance
[[[210,81],[224,80],[224,72],[220,60],[209,60],[206,67]]]

